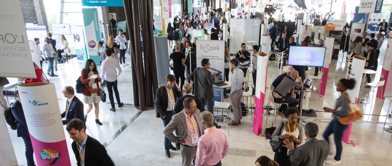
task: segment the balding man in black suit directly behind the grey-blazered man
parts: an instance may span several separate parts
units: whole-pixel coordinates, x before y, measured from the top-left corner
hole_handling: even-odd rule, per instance
[[[185,83],[182,86],[182,94],[183,94],[183,96],[179,97],[176,100],[176,105],[174,106],[174,114],[177,114],[184,109],[184,105],[182,103],[188,97],[191,97],[192,99],[194,99],[194,101],[196,102],[196,106],[198,106],[200,112],[204,111],[204,103],[203,103],[203,101],[201,101],[199,96],[192,95],[192,85],[190,83]]]

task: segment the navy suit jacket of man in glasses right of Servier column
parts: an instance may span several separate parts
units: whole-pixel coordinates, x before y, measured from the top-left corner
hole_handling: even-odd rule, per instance
[[[67,99],[68,102],[68,99]],[[61,114],[61,118],[65,117],[65,112],[67,112],[67,102],[65,102],[65,111]],[[74,118],[78,118],[83,121],[84,126],[86,126],[86,121],[84,119],[84,105],[82,101],[78,99],[78,97],[74,96],[72,101],[70,101],[70,105],[68,108],[67,118],[63,120],[63,124],[67,124]]]

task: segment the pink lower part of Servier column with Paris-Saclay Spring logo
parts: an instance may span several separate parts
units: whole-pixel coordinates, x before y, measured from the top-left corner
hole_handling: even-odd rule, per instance
[[[44,143],[35,139],[31,134],[30,138],[38,166],[53,164],[65,166],[71,163],[71,160],[68,157],[67,141],[63,140],[56,143]],[[62,155],[64,156],[62,157]]]

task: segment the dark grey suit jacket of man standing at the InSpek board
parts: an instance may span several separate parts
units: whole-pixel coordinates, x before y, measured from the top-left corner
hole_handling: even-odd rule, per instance
[[[212,74],[209,70],[204,67],[197,67],[189,78],[192,80],[194,87],[194,95],[204,99],[213,99],[214,91],[212,85],[215,83],[215,79],[212,79]]]

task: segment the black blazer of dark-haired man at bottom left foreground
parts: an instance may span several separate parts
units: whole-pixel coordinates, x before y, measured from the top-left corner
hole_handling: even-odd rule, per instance
[[[107,155],[105,147],[99,141],[86,135],[87,140],[84,146],[84,165],[85,166],[114,166],[112,159]],[[72,150],[75,154],[78,166],[80,166],[80,155],[76,142],[72,143]]]

